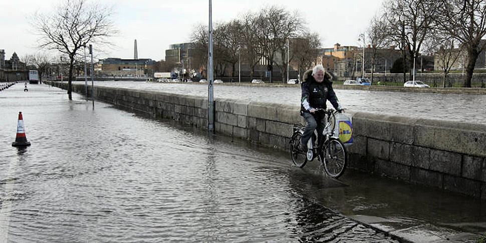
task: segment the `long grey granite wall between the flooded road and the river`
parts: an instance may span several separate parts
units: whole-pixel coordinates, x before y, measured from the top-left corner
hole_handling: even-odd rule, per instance
[[[51,82],[67,89],[66,83]],[[73,84],[84,94],[85,86]],[[91,95],[91,87],[89,87]],[[207,128],[207,98],[95,87],[95,97],[130,111]],[[288,151],[300,107],[216,99],[215,132]],[[350,167],[486,199],[486,126],[349,112]]]

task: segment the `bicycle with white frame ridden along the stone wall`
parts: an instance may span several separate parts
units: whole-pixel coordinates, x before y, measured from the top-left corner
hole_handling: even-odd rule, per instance
[[[312,138],[307,143],[308,150],[302,151],[300,147],[300,140],[304,134],[305,127],[294,126],[294,133],[290,140],[290,151],[292,155],[292,161],[297,167],[303,168],[308,161],[318,158],[322,163],[326,173],[333,177],[338,178],[344,173],[348,164],[348,151],[344,146],[344,143],[339,140],[339,137],[333,134],[336,117],[335,115],[340,111],[334,109],[316,109],[316,112],[324,112],[326,115],[326,126],[324,127],[323,142],[317,147],[317,129],[314,130]],[[339,136],[339,134],[337,134]],[[316,156],[317,154],[317,156]]]

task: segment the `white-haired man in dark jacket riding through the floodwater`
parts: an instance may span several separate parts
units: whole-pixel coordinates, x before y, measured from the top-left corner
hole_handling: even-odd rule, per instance
[[[301,149],[307,151],[307,142],[316,128],[318,144],[321,144],[322,132],[326,124],[324,114],[316,112],[316,108],[325,110],[328,100],[336,110],[343,111],[343,108],[332,88],[331,75],[324,72],[322,65],[316,65],[313,69],[304,73],[301,88],[301,116],[307,121],[307,126],[301,139]]]

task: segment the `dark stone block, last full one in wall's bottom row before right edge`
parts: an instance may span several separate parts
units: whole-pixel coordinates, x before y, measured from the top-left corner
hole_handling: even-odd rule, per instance
[[[481,182],[458,176],[444,175],[444,189],[476,198],[481,196]]]

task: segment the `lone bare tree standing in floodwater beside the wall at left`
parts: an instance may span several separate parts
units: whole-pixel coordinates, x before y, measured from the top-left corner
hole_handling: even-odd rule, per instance
[[[36,13],[32,26],[39,35],[39,47],[57,50],[69,57],[68,94],[71,99],[74,62],[78,51],[88,45],[108,45],[106,38],[117,33],[112,11],[86,0],[65,0],[54,12]]]

